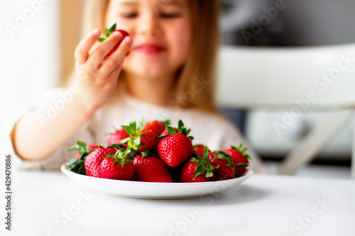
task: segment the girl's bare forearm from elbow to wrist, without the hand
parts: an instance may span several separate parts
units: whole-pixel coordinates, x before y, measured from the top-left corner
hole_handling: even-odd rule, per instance
[[[55,101],[50,105],[55,107]],[[84,111],[82,107],[82,101],[74,97],[54,118],[46,115],[48,108],[40,108],[23,116],[11,133],[18,157],[39,160],[53,154],[94,116],[94,112]]]

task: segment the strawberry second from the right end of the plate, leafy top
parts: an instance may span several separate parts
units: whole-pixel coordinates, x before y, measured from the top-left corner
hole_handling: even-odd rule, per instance
[[[235,173],[234,162],[228,153],[222,151],[211,152],[209,154],[209,160],[214,167],[217,167],[217,179],[233,179]]]

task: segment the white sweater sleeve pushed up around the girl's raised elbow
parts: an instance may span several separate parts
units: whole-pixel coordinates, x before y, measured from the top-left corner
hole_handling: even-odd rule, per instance
[[[0,153],[3,157],[5,154],[11,154],[13,169],[58,170],[62,164],[75,156],[75,151],[67,152],[67,148],[75,145],[77,140],[86,142],[88,144],[94,143],[95,130],[93,119],[86,125],[83,125],[83,127],[80,128],[80,130],[78,130],[74,135],[72,135],[72,137],[70,137],[56,152],[50,154],[50,156],[46,157],[45,159],[38,161],[28,161],[21,159],[16,154],[13,148],[13,143],[11,142],[10,135],[17,121],[21,119],[21,117],[25,116],[29,111],[35,110],[35,108],[40,106],[45,106],[54,99],[60,99],[60,93],[63,91],[65,91],[65,89],[53,89],[46,93],[41,101],[36,103],[35,106],[30,106],[25,109],[18,109],[16,111],[7,112],[4,114],[4,122],[0,124]],[[55,134],[53,134],[53,138],[55,138]],[[4,166],[4,163],[1,162],[0,166]]]

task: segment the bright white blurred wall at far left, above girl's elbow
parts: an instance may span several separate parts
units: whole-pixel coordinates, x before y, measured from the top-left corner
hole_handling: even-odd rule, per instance
[[[58,84],[59,13],[58,0],[0,0],[0,114]]]

